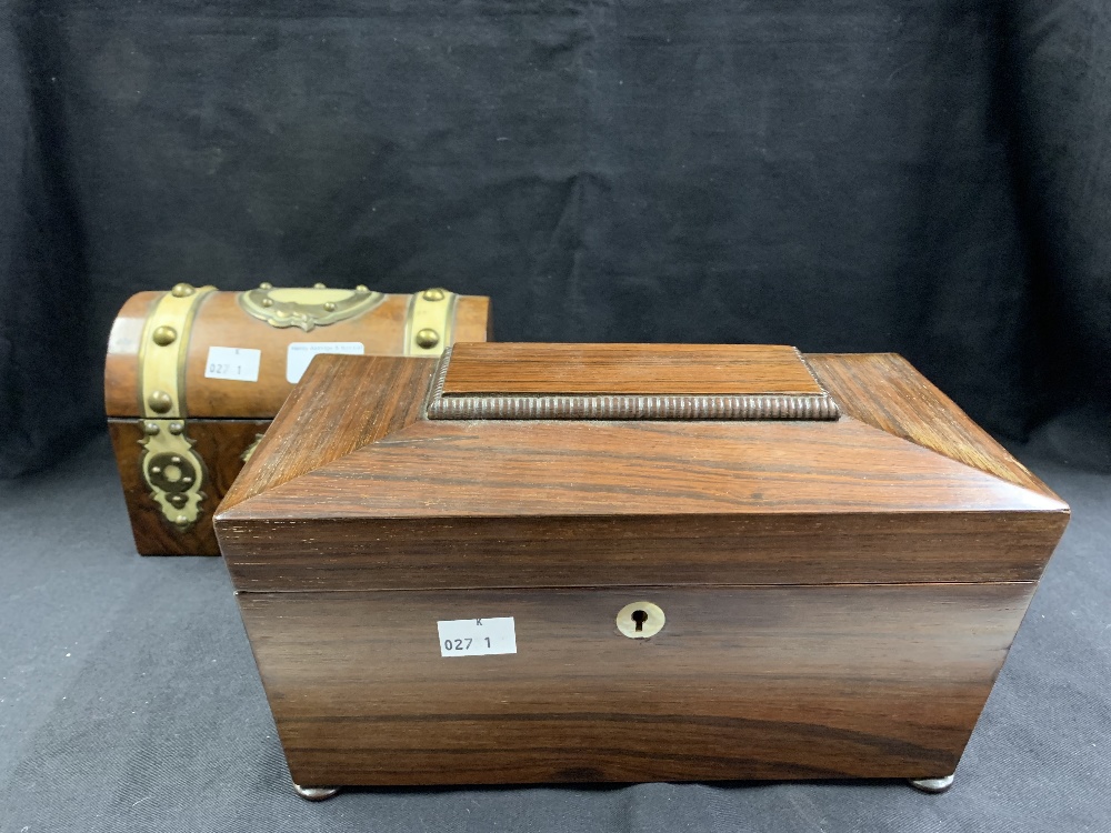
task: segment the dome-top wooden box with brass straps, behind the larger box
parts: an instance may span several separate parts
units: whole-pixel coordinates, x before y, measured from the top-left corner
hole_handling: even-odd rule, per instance
[[[317,353],[439,355],[489,327],[488,298],[442,289],[132,295],[109,338],[104,405],[136,548],[220,554],[212,512]]]

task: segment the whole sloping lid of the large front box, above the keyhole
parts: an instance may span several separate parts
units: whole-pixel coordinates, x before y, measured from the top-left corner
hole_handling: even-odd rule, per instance
[[[757,395],[751,379],[721,370],[747,361],[792,374],[788,384],[769,379],[768,389],[781,385],[769,395],[829,397],[828,377],[823,387],[793,350],[765,350],[467,345],[447,370],[433,360],[321,358],[218,512],[236,585],[1037,579],[1068,508],[1024,470],[1012,474],[990,438],[970,430],[922,440],[845,415],[867,416],[851,400],[875,387],[893,399],[869,408],[889,416],[959,414],[971,424],[951,403],[937,408],[935,389],[900,365],[875,365],[880,382],[902,373],[899,385],[865,378],[863,393],[842,388],[850,399],[839,419],[429,419],[438,395]],[[557,362],[514,369],[499,358],[514,351],[561,362],[577,354],[607,372],[594,384],[593,370]],[[622,351],[668,372],[611,361]],[[484,375],[482,355],[494,358]],[[673,372],[675,357],[692,358],[689,379]],[[462,370],[453,377],[452,367]],[[629,387],[615,389],[621,380]]]

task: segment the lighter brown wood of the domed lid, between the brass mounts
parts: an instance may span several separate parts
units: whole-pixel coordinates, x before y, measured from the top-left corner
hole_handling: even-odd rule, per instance
[[[109,416],[139,416],[139,340],[143,321],[160,292],[141,292],[120,310],[109,338],[104,369],[104,407]],[[347,321],[309,332],[279,329],[248,314],[238,292],[213,292],[199,304],[186,359],[188,416],[211,419],[272,419],[293,390],[286,379],[286,359],[293,342],[359,342],[368,355],[400,355],[404,349],[410,295],[388,294],[381,304]],[[460,295],[456,307],[456,339],[480,341],[490,325],[490,300]],[[260,350],[257,382],[206,379],[210,347]]]

